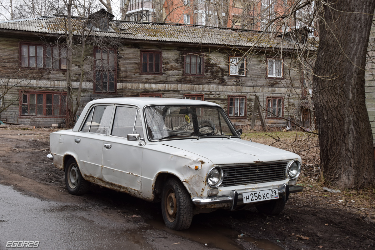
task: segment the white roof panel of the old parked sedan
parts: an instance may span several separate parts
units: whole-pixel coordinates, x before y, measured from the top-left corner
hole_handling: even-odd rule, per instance
[[[93,105],[97,103],[110,103],[110,104],[123,104],[123,105],[134,105],[139,108],[143,108],[148,105],[211,105],[220,106],[213,102],[190,100],[190,99],[178,99],[178,98],[160,98],[160,97],[118,97],[118,98],[103,98],[93,100],[88,104]]]

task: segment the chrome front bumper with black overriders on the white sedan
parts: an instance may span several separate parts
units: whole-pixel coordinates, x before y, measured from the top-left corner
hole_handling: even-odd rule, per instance
[[[290,193],[302,192],[303,187],[301,186],[288,186],[284,184],[278,188],[279,195],[285,197],[285,201],[288,200]],[[237,193],[236,190],[232,190],[230,195],[219,195],[219,196],[201,196],[192,198],[192,202],[195,205],[211,205],[221,204],[222,207],[229,207],[231,210],[235,210],[237,205],[243,205],[242,193]]]

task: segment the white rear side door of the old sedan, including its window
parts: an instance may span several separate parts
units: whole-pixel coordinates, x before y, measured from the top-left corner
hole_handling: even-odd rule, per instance
[[[74,136],[74,151],[84,175],[102,179],[102,149],[111,123],[113,105],[96,105],[90,110],[80,132]]]

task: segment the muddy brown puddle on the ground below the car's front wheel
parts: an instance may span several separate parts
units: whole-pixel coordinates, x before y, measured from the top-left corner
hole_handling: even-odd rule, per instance
[[[174,231],[167,228],[162,220],[148,220],[146,223],[156,229],[164,230],[170,234],[188,238],[203,245],[207,244],[208,247],[216,247],[222,250],[243,250],[243,247],[237,244],[237,240],[254,243],[259,249],[284,250],[284,248],[272,243],[269,240],[259,240],[248,236],[238,238],[238,232],[217,225],[209,227],[201,224],[193,224],[187,230]]]

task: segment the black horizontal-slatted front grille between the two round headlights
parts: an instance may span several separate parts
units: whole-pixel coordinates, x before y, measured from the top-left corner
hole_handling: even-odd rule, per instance
[[[221,166],[224,178],[220,187],[285,180],[287,164],[288,161]]]

